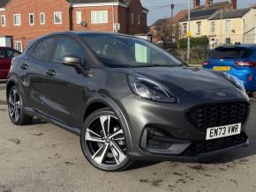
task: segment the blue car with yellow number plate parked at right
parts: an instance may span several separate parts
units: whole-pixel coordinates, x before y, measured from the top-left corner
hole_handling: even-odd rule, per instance
[[[256,92],[256,45],[215,48],[203,67],[229,73],[243,82],[250,95]]]

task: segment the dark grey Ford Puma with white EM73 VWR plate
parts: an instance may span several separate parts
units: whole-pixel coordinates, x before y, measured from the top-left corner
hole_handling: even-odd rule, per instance
[[[244,85],[186,66],[154,44],[114,33],[52,33],[12,60],[11,122],[39,117],[80,136],[87,160],[118,171],[134,160],[200,159],[246,146]]]

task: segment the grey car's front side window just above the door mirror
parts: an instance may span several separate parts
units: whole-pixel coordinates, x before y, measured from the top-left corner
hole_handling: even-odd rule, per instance
[[[74,56],[84,59],[85,53],[85,49],[77,41],[68,37],[61,37],[57,42],[53,61],[61,63],[64,56]]]

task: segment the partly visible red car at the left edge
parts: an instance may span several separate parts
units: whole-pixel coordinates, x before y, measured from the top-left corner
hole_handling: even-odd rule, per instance
[[[0,79],[7,78],[11,68],[11,59],[21,53],[14,48],[0,47]]]

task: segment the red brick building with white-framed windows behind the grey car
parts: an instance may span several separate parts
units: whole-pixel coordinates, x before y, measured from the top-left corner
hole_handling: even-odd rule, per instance
[[[145,33],[147,12],[140,0],[0,0],[0,37],[22,51],[35,37],[58,31]]]

